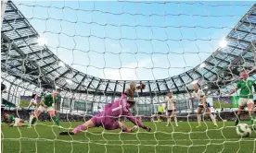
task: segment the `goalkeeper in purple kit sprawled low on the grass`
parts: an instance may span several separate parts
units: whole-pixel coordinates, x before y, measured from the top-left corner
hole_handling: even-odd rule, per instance
[[[115,100],[113,103],[107,104],[104,108],[104,112],[96,114],[96,116],[86,123],[74,128],[73,131],[61,132],[59,135],[76,135],[83,130],[98,126],[102,126],[106,130],[115,130],[121,128],[122,132],[131,133],[137,128],[138,125],[139,127],[147,130],[147,132],[150,132],[151,128],[142,124],[139,120],[136,120],[132,112],[129,110],[134,106],[134,90],[134,82],[131,82],[130,88],[127,89],[124,94],[122,94],[122,97],[119,100]],[[127,97],[130,99],[127,100]],[[120,116],[125,116],[128,120],[135,124],[134,127],[130,129],[125,124],[122,124],[119,121]]]

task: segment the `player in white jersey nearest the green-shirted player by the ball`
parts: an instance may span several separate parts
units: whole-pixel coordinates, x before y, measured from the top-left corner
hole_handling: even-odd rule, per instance
[[[209,113],[209,115],[211,117],[211,121],[214,124],[214,127],[218,127],[218,125],[216,124],[216,120],[215,120],[214,116],[211,114],[211,109],[209,108],[209,105],[206,101],[205,93],[203,92],[203,90],[198,88],[198,84],[194,84],[193,88],[194,88],[194,91],[191,95],[192,99],[198,100],[198,126],[197,126],[197,128],[199,128],[201,126],[201,112],[202,112],[202,110],[207,111]]]

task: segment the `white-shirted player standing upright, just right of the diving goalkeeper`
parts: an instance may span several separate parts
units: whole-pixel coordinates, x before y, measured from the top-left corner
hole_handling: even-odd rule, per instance
[[[167,97],[165,100],[165,110],[167,116],[167,125],[171,124],[171,118],[174,117],[175,125],[178,126],[178,121],[176,117],[176,100],[173,96],[173,92],[170,91],[167,93]]]

